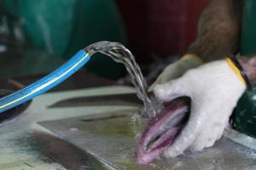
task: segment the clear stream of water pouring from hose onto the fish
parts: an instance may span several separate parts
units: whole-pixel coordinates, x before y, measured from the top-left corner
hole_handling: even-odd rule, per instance
[[[137,97],[143,100],[143,116],[151,117],[160,110],[160,101],[147,94],[148,84],[131,51],[119,42],[96,42],[84,48],[89,54],[102,53],[110,56],[114,61],[125,65],[130,74],[131,82],[137,89]]]

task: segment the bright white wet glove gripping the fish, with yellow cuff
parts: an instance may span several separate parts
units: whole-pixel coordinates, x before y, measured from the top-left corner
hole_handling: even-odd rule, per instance
[[[184,150],[202,150],[219,139],[238,99],[246,89],[226,60],[219,60],[186,72],[183,77],[156,85],[154,94],[165,101],[178,96],[191,98],[189,121],[183,127],[166,157]]]

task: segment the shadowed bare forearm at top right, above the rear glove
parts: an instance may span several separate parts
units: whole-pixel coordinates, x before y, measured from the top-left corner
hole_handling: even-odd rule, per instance
[[[205,61],[235,54],[239,45],[240,23],[240,0],[212,0],[201,14],[197,38],[188,53],[196,54]]]

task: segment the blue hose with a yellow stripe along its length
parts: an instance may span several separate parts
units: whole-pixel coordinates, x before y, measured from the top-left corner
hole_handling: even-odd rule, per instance
[[[89,61],[90,56],[91,55],[89,53],[81,49],[73,56],[72,59],[69,59],[67,63],[61,65],[60,68],[51,72],[49,75],[32,83],[26,88],[21,89],[20,91],[15,92],[14,94],[9,94],[8,96],[0,99],[0,114],[3,113],[3,111],[7,111],[17,105],[25,103],[40,94],[44,94],[49,89],[54,88],[85,65]]]

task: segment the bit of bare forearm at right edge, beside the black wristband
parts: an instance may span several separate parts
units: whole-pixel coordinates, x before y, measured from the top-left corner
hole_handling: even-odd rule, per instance
[[[249,81],[252,85],[256,85],[256,56],[252,58],[239,57],[238,60],[246,72]]]

